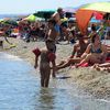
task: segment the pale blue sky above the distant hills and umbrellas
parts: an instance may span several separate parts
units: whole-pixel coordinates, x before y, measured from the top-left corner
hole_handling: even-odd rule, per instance
[[[0,0],[0,14],[34,13],[44,9],[57,9],[59,7],[78,7],[80,4],[110,1],[110,0]]]

